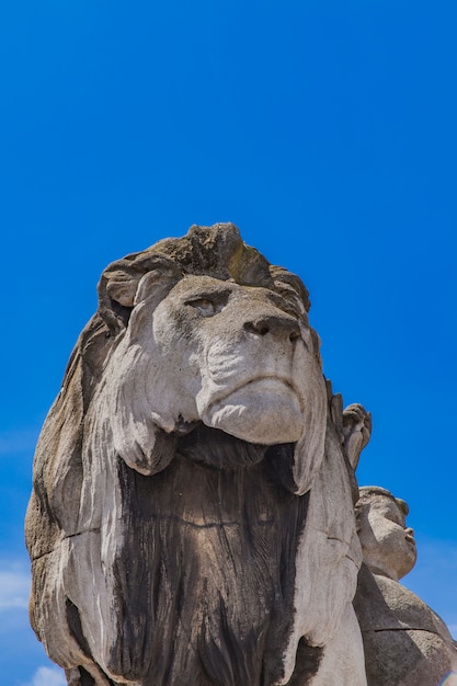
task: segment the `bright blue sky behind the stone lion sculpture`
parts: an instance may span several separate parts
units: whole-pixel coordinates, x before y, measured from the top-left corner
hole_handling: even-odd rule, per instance
[[[61,683],[27,628],[23,516],[100,273],[192,224],[302,277],[325,376],[373,412],[359,482],[409,502],[405,583],[457,631],[456,22],[452,0],[3,3],[5,686]]]

